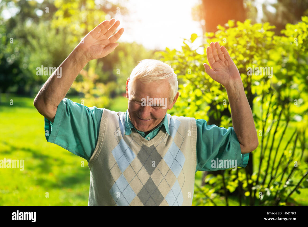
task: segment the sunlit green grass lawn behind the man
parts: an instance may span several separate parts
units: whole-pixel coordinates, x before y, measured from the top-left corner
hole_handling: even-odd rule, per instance
[[[80,98],[67,96],[72,101]],[[10,105],[10,100],[14,105]],[[33,106],[34,98],[1,94],[0,159],[24,159],[25,169],[0,168],[0,205],[87,205],[90,170],[87,161],[47,142],[44,117]],[[127,109],[127,98],[117,97],[109,108]],[[196,173],[201,184],[202,172]],[[307,189],[292,198],[307,205]],[[222,198],[214,200],[225,205]],[[229,198],[230,205],[238,205]]]

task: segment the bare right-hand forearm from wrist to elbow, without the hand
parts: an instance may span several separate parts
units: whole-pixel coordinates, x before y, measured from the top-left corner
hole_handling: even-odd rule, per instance
[[[258,137],[243,83],[231,84],[226,87],[226,91],[231,109],[233,130],[242,145],[241,149],[247,153],[247,151],[256,149]]]

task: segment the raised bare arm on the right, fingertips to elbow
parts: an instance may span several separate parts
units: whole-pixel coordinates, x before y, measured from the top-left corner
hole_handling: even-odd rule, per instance
[[[226,88],[233,130],[240,142],[241,153],[249,153],[258,147],[259,142],[240,73],[227,49],[218,42],[210,43],[206,55],[211,68],[204,63],[205,72]]]

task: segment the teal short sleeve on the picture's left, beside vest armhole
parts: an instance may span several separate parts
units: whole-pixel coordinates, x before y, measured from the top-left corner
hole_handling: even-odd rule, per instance
[[[54,123],[45,118],[45,137],[88,162],[95,150],[102,108],[87,107],[64,98],[58,105]]]

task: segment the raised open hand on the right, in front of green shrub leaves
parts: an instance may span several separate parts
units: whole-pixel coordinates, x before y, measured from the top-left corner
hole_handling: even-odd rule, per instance
[[[224,87],[242,82],[240,72],[224,46],[220,47],[218,42],[211,42],[210,46],[206,48],[206,56],[211,68],[204,63],[205,72],[213,80]]]

